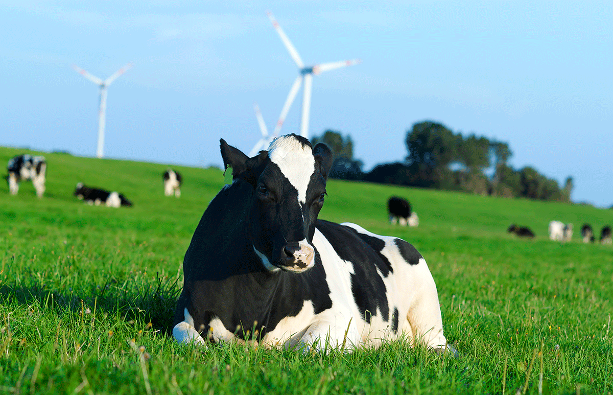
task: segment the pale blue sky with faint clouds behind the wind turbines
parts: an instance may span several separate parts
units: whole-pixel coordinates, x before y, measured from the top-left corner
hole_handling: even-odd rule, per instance
[[[248,153],[305,64],[360,58],[313,78],[310,135],[349,134],[370,171],[402,161],[432,120],[508,142],[573,201],[613,204],[613,2],[0,0],[0,145],[94,156],[106,79],[105,157],[222,167]],[[298,132],[301,95],[282,134]],[[110,186],[109,186],[110,187]]]

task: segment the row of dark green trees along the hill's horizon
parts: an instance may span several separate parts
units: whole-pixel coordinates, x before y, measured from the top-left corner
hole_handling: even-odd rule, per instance
[[[367,173],[362,171],[362,161],[353,156],[351,137],[328,130],[313,138],[313,144],[317,142],[332,148],[332,178],[554,201],[569,201],[573,189],[572,177],[560,188],[556,180],[532,167],[509,166],[512,151],[506,142],[463,136],[432,121],[416,123],[406,132],[405,161],[380,164]]]

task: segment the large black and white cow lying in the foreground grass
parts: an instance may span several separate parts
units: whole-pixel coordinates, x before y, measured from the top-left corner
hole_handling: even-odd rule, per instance
[[[248,158],[221,140],[233,182],[210,202],[183,261],[173,337],[265,347],[449,350],[436,285],[404,240],[318,220],[332,153],[291,134]]]

